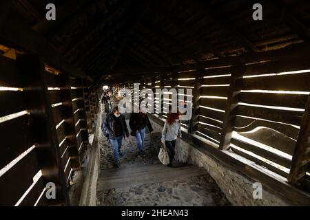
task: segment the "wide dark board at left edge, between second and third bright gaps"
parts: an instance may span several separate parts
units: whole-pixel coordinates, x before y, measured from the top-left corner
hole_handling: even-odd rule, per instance
[[[0,133],[3,137],[1,138],[0,168],[34,144],[31,125],[30,115],[22,115],[0,123]]]

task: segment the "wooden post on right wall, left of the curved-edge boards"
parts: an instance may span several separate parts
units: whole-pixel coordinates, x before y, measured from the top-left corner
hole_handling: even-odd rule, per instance
[[[236,119],[236,108],[238,107],[238,94],[240,94],[240,90],[236,88],[236,78],[245,73],[245,64],[236,63],[231,69],[230,85],[220,137],[220,150],[227,150],[231,144],[231,136]]]

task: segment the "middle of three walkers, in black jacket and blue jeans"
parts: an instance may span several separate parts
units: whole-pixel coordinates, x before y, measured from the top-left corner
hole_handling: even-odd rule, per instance
[[[136,133],[136,146],[138,148],[138,156],[143,154],[143,140],[145,137],[145,126],[149,129],[151,133],[153,131],[152,124],[149,122],[149,118],[146,113],[140,111],[139,113],[132,113],[130,116],[130,129]]]

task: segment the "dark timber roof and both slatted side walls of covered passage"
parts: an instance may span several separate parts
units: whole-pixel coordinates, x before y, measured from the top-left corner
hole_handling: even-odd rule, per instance
[[[45,19],[48,3],[56,5],[56,21]],[[252,19],[254,3],[263,5],[262,21]],[[1,0],[0,87],[17,90],[0,89],[0,118],[26,112],[0,122],[0,169],[30,146],[35,151],[0,175],[0,205],[14,206],[39,170],[19,205],[70,205],[68,179],[81,168],[103,85],[133,83],[192,88],[187,140],[309,205],[309,41],[307,0]],[[153,114],[164,119],[162,110]],[[288,186],[223,151],[285,177]],[[62,197],[38,200],[50,181]]]

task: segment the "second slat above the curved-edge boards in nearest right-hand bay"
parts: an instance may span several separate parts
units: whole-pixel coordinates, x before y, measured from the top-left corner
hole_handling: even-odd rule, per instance
[[[241,92],[239,94],[239,102],[304,109],[308,96],[309,95],[300,94],[263,94]]]

